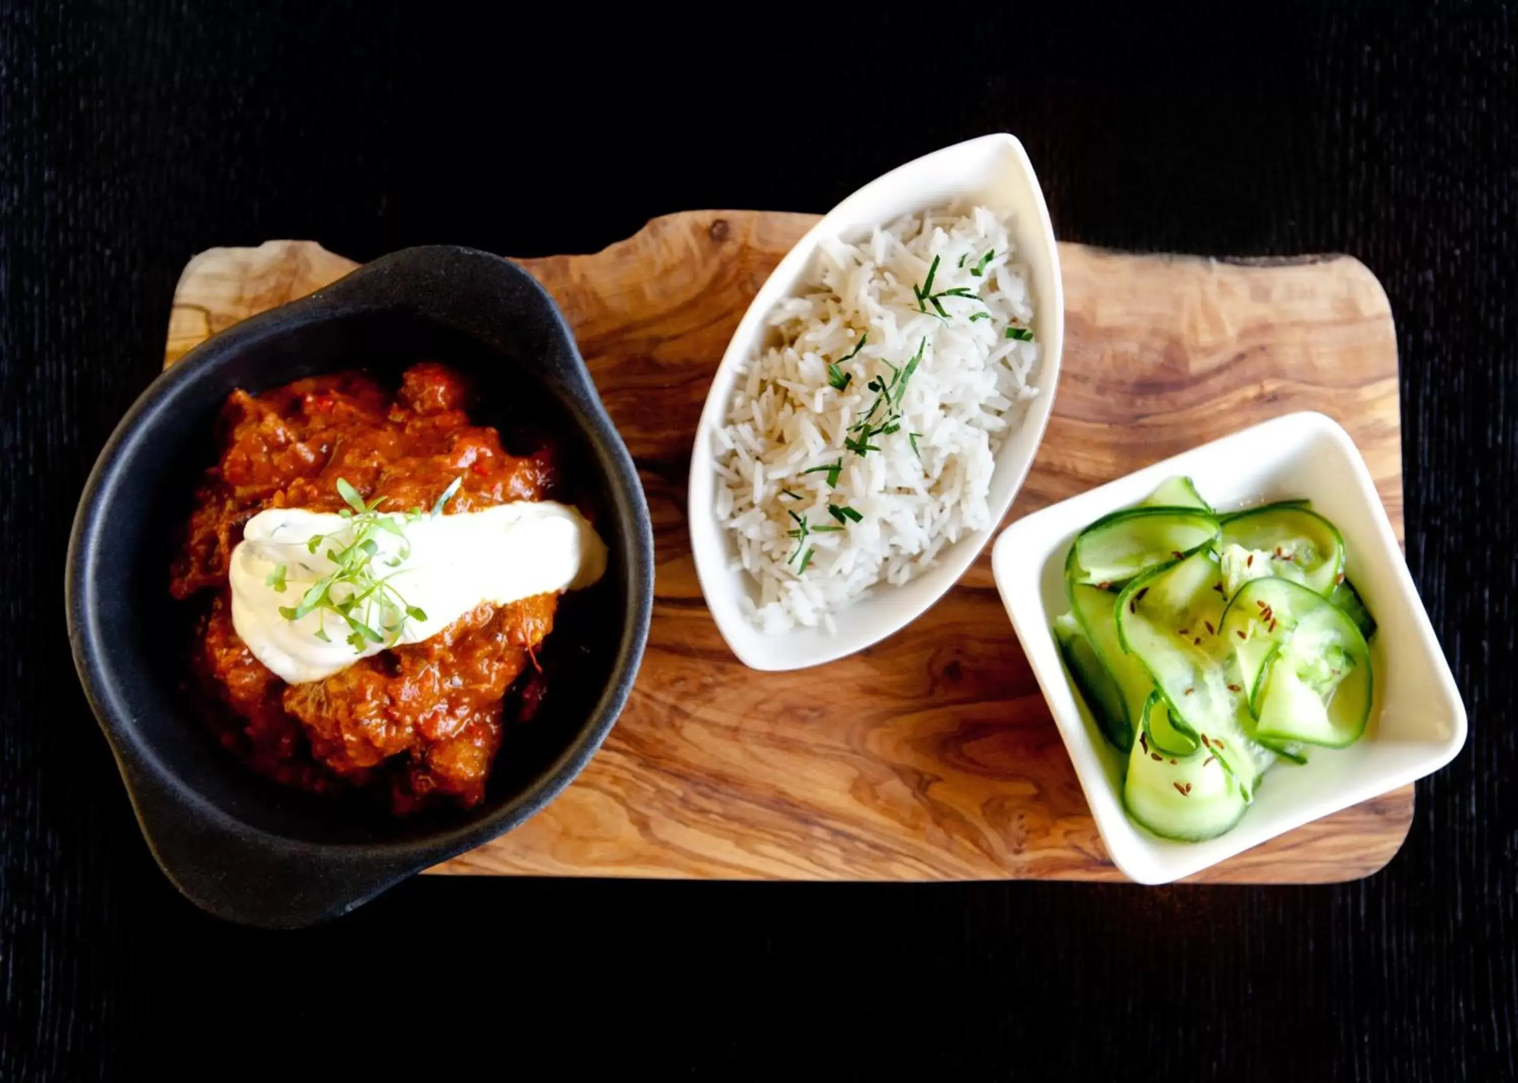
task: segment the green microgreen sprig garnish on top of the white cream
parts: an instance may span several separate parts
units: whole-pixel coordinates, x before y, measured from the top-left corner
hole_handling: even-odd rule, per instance
[[[455,478],[443,490],[433,505],[433,516],[440,516],[443,507],[458,491],[463,478]],[[348,628],[346,642],[357,654],[363,654],[370,643],[395,645],[401,639],[401,629],[407,619],[427,620],[427,613],[419,605],[405,601],[399,590],[392,585],[390,575],[378,575],[375,558],[380,555],[378,534],[393,534],[401,538],[396,557],[386,561],[389,567],[396,567],[410,555],[411,548],[405,540],[401,525],[389,514],[380,514],[383,496],[364,504],[346,478],[337,479],[337,494],[343,498],[348,508],[340,511],[346,520],[340,531],[332,534],[316,534],[307,538],[305,551],[316,554],[326,543],[326,558],[335,567],[317,579],[301,595],[296,605],[281,605],[279,616],[285,620],[301,620],[310,613],[320,614],[320,625],[313,633],[323,643],[331,643],[326,634],[326,614],[342,619]],[[405,514],[405,522],[422,519],[422,510],[413,508]],[[285,566],[278,564],[270,572],[267,585],[276,592],[285,589]]]

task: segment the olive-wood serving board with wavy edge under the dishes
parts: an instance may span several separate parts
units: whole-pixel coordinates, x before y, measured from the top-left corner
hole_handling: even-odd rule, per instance
[[[452,874],[771,880],[1122,880],[991,584],[988,557],[914,625],[797,673],[716,633],[685,523],[707,384],[750,297],[817,221],[700,211],[584,256],[524,259],[557,299],[642,472],[657,582],[627,710],[580,778]],[[1216,262],[1063,244],[1064,370],[1016,519],[1295,410],[1354,435],[1401,534],[1397,341],[1345,256]],[[214,249],[175,294],[165,363],[342,276],[311,243]],[[354,358],[361,364],[363,358]],[[1380,869],[1413,790],[1298,828],[1198,880],[1316,883]]]

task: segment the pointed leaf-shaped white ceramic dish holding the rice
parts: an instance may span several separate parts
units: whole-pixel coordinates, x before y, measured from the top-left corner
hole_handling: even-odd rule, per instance
[[[835,206],[780,261],[754,296],[712,379],[706,408],[697,426],[691,455],[689,522],[695,570],[707,608],[723,639],[739,661],[753,669],[802,669],[842,658],[891,636],[915,620],[952,587],[985,548],[991,531],[976,531],[944,549],[938,563],[905,587],[877,587],[868,598],[836,614],[836,631],[795,628],[767,636],[753,625],[739,599],[754,592],[751,579],[735,566],[736,548],[713,511],[716,475],[715,437],[723,423],[738,378],[738,366],[765,341],[767,317],[774,305],[794,293],[818,243],[827,237],[856,241],[874,226],[955,200],[982,203],[1016,215],[1014,237],[1020,259],[1028,265],[1034,297],[1032,331],[1041,346],[1038,369],[1029,382],[1038,396],[1025,407],[1022,425],[1002,444],[991,476],[990,505],[994,520],[1006,514],[1022,488],[1034,452],[1043,440],[1053,407],[1064,347],[1064,290],[1060,282],[1060,252],[1049,223],[1038,177],[1011,135],[987,135],[959,143],[891,170]]]

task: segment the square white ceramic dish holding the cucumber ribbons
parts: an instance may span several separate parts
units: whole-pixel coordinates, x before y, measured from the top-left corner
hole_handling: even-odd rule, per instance
[[[1070,686],[1049,625],[1069,610],[1064,558],[1082,526],[1187,475],[1214,507],[1231,510],[1305,496],[1340,529],[1346,572],[1375,616],[1371,643],[1375,713],[1356,745],[1312,749],[1309,763],[1271,769],[1239,825],[1208,842],[1158,839],[1123,813],[1120,757]],[[1129,878],[1167,883],[1266,839],[1422,778],[1465,743],[1454,687],[1407,573],[1371,473],[1350,434],[1322,414],[1289,414],[1157,463],[1008,526],[991,555],[996,585],[1053,711],[1060,736],[1113,862]]]

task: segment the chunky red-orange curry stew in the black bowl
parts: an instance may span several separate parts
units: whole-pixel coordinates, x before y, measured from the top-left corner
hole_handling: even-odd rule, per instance
[[[205,602],[193,669],[219,704],[222,743],[255,771],[313,792],[386,789],[396,813],[469,807],[484,798],[507,716],[536,708],[534,652],[557,595],[481,604],[425,642],[305,684],[270,672],[232,623],[228,567],[243,526],[269,508],[343,511],[339,478],[383,498],[383,513],[433,507],[460,478],[445,514],[546,499],[551,449],[509,455],[493,428],[471,423],[466,399],[463,379],[433,363],[407,370],[395,394],[349,372],[228,399],[170,590]]]

